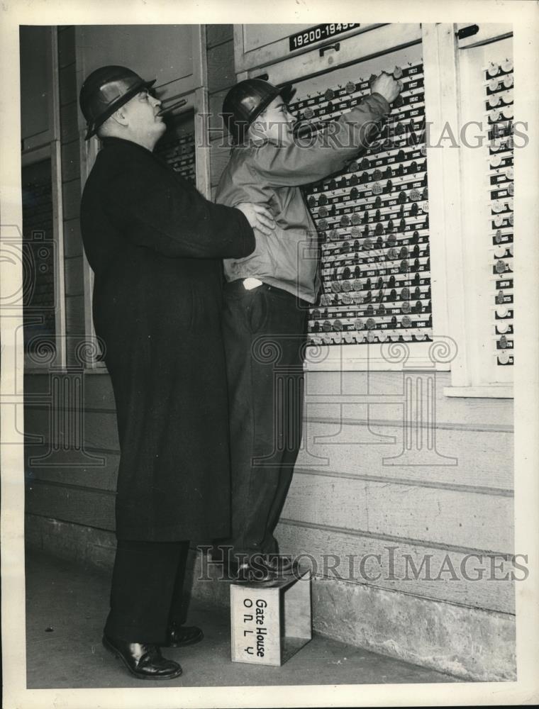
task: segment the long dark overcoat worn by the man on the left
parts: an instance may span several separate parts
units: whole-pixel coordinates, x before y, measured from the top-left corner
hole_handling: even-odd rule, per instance
[[[248,220],[145,147],[107,138],[84,186],[81,228],[116,399],[118,538],[227,535],[221,259],[254,250]]]

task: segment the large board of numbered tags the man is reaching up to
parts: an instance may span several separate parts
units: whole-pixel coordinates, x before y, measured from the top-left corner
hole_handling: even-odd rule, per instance
[[[305,190],[321,240],[314,345],[432,340],[423,64],[393,74],[404,86],[379,138]],[[319,127],[368,95],[372,78],[299,97],[291,111]]]

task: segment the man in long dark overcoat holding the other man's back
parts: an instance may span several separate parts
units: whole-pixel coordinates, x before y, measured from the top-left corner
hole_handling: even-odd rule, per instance
[[[182,625],[191,539],[230,531],[221,259],[248,256],[270,213],[211,203],[153,155],[160,101],[126,67],[82,86],[87,138],[102,147],[84,186],[81,227],[93,315],[116,400],[118,540],[104,645],[140,679],[182,669],[160,646],[200,640]]]

